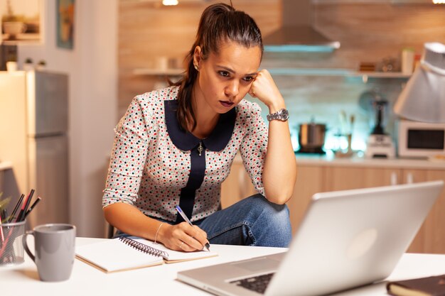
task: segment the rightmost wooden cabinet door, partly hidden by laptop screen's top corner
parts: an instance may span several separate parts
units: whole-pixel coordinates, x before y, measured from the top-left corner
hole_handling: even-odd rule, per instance
[[[445,170],[403,170],[403,182],[444,180]],[[409,253],[445,253],[445,190],[408,248]]]

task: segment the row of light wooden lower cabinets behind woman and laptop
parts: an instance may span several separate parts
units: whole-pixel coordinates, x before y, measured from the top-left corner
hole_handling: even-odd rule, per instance
[[[385,160],[380,160],[385,161]],[[378,160],[355,163],[342,160],[340,163],[318,161],[315,163],[297,160],[298,177],[294,194],[287,203],[291,213],[292,230],[298,229],[311,197],[316,192],[350,190],[365,187],[396,185],[434,180],[445,181],[445,165],[431,165],[426,160],[414,162]],[[378,165],[377,165],[378,163]],[[420,162],[419,162],[420,163]],[[400,164],[400,165],[399,165]],[[223,183],[223,208],[254,194],[252,182],[242,163],[234,163],[229,177]],[[410,253],[445,253],[445,190],[434,204],[429,216],[409,247]]]

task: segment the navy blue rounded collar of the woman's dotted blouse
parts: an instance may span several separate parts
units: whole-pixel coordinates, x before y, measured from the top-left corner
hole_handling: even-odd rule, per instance
[[[178,109],[178,100],[165,100],[163,102],[166,114],[166,126],[168,136],[170,136],[173,144],[183,151],[192,150],[202,141],[205,148],[211,151],[220,151],[227,146],[232,137],[233,128],[235,127],[235,119],[237,112],[235,108],[225,114],[220,114],[220,119],[208,138],[201,140],[193,136],[193,133],[183,131],[176,117]]]

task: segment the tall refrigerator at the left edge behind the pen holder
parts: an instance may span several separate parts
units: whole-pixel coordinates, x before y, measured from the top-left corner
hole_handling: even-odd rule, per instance
[[[3,184],[10,209],[31,189],[42,198],[28,227],[70,222],[68,75],[0,71],[0,161],[13,166]]]

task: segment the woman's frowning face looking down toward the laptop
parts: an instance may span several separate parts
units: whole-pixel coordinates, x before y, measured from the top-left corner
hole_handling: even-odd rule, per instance
[[[223,114],[249,92],[261,62],[261,49],[227,41],[220,46],[218,54],[210,53],[206,60],[200,57],[200,48],[196,47],[193,58],[199,67],[195,84],[197,103],[207,104],[216,113]]]

